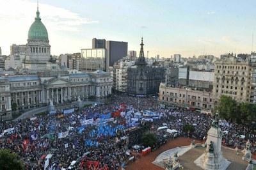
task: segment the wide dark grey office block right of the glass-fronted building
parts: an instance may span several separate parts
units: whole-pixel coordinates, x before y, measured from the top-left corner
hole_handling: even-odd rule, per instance
[[[127,56],[127,42],[106,42],[106,69],[113,66],[116,61]]]

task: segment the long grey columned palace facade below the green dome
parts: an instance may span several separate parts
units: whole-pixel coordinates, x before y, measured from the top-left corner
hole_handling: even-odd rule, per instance
[[[34,75],[0,77],[0,112],[12,118],[12,109],[24,111],[35,107],[76,101],[111,94],[110,73],[97,70],[91,73],[38,72]],[[14,105],[15,108],[13,107]]]

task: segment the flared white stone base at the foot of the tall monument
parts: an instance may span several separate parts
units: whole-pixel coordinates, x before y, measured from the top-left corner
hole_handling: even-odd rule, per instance
[[[208,155],[208,158],[211,158],[211,155]],[[214,160],[214,155],[212,154],[212,159]],[[204,164],[204,160],[205,160],[205,153],[203,153],[200,157],[198,157],[194,163],[196,164],[196,166],[201,167],[202,169],[205,170],[214,170],[214,169],[218,169],[218,170],[225,170],[227,169],[227,167],[229,166],[229,164],[231,162],[229,162],[226,158],[222,157],[220,164],[218,165],[218,168],[216,168],[216,163],[212,164],[210,163],[211,161],[208,162],[208,164]]]

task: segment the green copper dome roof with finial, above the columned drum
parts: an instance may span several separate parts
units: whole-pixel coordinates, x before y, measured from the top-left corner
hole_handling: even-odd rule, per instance
[[[46,40],[48,41],[47,29],[40,19],[40,13],[37,8],[36,18],[33,24],[30,26],[28,31],[29,40]]]

